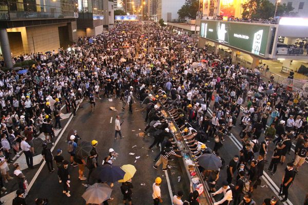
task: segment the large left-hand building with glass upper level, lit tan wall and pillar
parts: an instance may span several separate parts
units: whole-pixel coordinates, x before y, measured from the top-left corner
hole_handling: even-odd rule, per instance
[[[18,0],[0,3],[0,44],[6,67],[11,54],[68,48],[78,39],[76,0]]]

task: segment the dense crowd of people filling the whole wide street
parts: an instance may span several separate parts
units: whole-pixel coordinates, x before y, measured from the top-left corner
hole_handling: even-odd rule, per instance
[[[235,127],[242,128],[239,134],[242,150],[234,153],[229,162],[226,179],[220,179],[220,169],[206,170],[199,166],[210,187],[208,191],[213,195],[224,193],[215,205],[230,201],[236,205],[254,204],[251,203],[252,193],[260,184],[264,167],[272,175],[277,169],[285,168],[278,165],[285,163],[285,156],[291,154],[292,143],[295,143],[294,161],[286,163],[280,192],[284,196],[282,201],[286,201],[288,188],[296,173],[302,172],[300,167],[308,151],[306,96],[275,84],[274,78],[265,80],[258,68],[244,68],[228,57],[207,52],[206,46],[199,49],[189,36],[174,34],[155,24],[150,24],[149,28],[155,32],[147,36],[138,23],[119,24],[108,33],[79,38],[78,45],[71,51],[59,49],[57,53],[26,54],[15,59],[32,59],[36,64],[25,74],[12,70],[2,74],[0,79],[2,190],[5,190],[3,181],[7,183],[13,179],[8,169],[13,155],[15,158],[23,152],[28,167],[35,169],[32,156],[41,153],[35,152],[33,140],[44,133],[42,155],[51,173],[55,170],[53,160],[56,161],[59,182],[63,184],[63,193],[69,197],[68,166],[79,166],[79,179],[89,180],[99,153],[95,149],[98,141],[93,140],[93,152],[87,158],[92,169],[88,177],[84,176],[88,162],[74,153],[77,133],[68,141],[70,159],[61,157],[61,149],[52,156],[49,148],[55,141],[55,130],[62,129],[62,106],[65,113],[75,116],[86,98],[91,108],[89,112],[94,114],[95,101],[115,95],[122,100],[122,109],[128,107],[130,113],[137,99],[146,109],[145,132],[154,137],[148,149],[156,145],[162,150],[155,158],[155,169],[163,163],[163,170],[168,170],[170,156],[182,157],[174,141],[175,133],[168,124],[170,119],[162,115],[157,100],[172,114],[182,140],[196,161],[204,153],[219,156],[226,135]],[[120,120],[118,116],[117,119]],[[123,137],[120,121],[115,125],[114,138],[117,139],[117,134]],[[215,142],[213,149],[206,145],[206,140]],[[270,146],[272,143],[276,144],[275,148]],[[267,155],[268,149],[274,150],[273,156]],[[104,161],[112,163],[114,154],[110,149]],[[18,167],[15,163],[14,177],[19,182],[15,204],[25,204],[17,203],[27,194],[25,176]],[[153,184],[154,204],[162,202],[160,183],[161,179],[157,178]],[[222,188],[216,190],[219,183]],[[182,201],[182,196],[180,191],[173,199],[174,204],[199,204],[196,192],[191,193],[187,201]],[[131,202],[131,195],[126,199]],[[37,204],[43,204],[42,199],[38,201],[41,203]],[[263,204],[276,203],[278,197],[273,196],[264,199]]]

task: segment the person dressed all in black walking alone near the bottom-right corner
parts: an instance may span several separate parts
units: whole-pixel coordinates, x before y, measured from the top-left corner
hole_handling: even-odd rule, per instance
[[[287,200],[288,197],[288,188],[292,185],[295,177],[295,170],[293,170],[293,163],[289,162],[286,165],[284,175],[282,177],[282,184],[280,185],[280,190],[279,190],[279,196],[283,196],[284,198],[281,200],[281,202],[284,202]]]

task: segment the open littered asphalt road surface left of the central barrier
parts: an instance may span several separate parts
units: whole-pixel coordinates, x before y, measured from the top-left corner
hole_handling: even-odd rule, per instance
[[[109,109],[110,106],[115,107],[118,111],[111,111]],[[179,190],[182,190],[185,193],[184,197],[187,197],[189,193],[186,182],[187,177],[181,172],[179,159],[175,158],[173,161],[169,161],[169,165],[171,165],[172,168],[167,173],[161,169],[155,170],[152,168],[155,163],[153,162],[153,158],[155,158],[159,150],[154,149],[153,152],[147,150],[147,147],[152,143],[152,137],[146,136],[142,138],[136,136],[136,134],[142,132],[145,127],[145,112],[142,112],[139,103],[133,105],[132,114],[128,112],[128,108],[122,111],[121,106],[122,104],[119,99],[113,98],[112,102],[108,101],[108,99],[101,99],[97,101],[95,114],[90,114],[89,104],[84,103],[84,108],[80,109],[77,112],[77,116],[70,121],[59,143],[56,145],[53,154],[55,154],[57,149],[61,148],[64,158],[69,160],[69,154],[66,151],[66,137],[70,130],[77,130],[82,140],[90,141],[95,139],[99,141],[97,150],[99,152],[100,164],[103,158],[107,156],[109,148],[113,148],[119,153],[113,165],[122,166],[129,163],[136,166],[137,172],[132,179],[132,184],[134,186],[133,204],[152,204],[152,184],[157,176],[163,179],[161,192],[164,204],[171,204],[170,195],[176,194]],[[114,119],[117,114],[124,119],[121,132],[125,138],[114,140]],[[132,148],[133,146],[136,147]],[[135,154],[129,155],[129,153]],[[140,158],[136,159],[138,156],[140,156]],[[134,162],[135,160],[137,160],[136,163]],[[87,176],[88,170],[87,168],[85,168],[85,170],[85,176]],[[32,180],[37,169],[31,171],[31,173],[28,173],[27,170],[24,171],[29,181]],[[70,167],[70,174],[71,197],[67,197],[62,193],[62,184],[59,183],[56,172],[50,174],[45,165],[33,183],[29,195],[26,197],[27,202],[33,204],[35,198],[41,197],[47,198],[50,204],[85,204],[85,200],[81,195],[86,189],[83,185],[83,183],[86,184],[86,181],[78,179],[78,167]],[[170,181],[169,187],[167,185],[166,175],[168,175]],[[178,181],[179,176],[181,177],[180,182]],[[114,183],[111,195],[114,197],[114,200],[109,201],[109,204],[123,204],[120,186],[120,183]]]

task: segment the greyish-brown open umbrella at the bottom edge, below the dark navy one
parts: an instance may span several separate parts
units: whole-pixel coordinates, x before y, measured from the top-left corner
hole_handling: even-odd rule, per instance
[[[111,196],[112,189],[106,183],[94,183],[88,187],[82,197],[86,203],[101,204]]]

